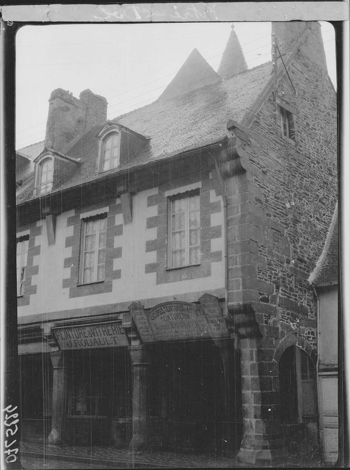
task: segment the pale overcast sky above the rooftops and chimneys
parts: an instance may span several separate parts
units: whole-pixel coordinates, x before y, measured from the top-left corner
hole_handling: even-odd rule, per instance
[[[112,119],[158,98],[194,48],[218,70],[234,24],[249,69],[271,60],[271,23],[24,26],[16,36],[16,148],[45,138],[55,88],[107,98]],[[333,26],[321,22],[336,86]]]

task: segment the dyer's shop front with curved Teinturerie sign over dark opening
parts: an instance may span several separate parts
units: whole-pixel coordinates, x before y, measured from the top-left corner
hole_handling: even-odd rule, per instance
[[[142,356],[134,374],[141,367],[145,381],[136,372],[134,397],[138,387],[148,390],[134,409],[131,447],[234,452],[241,443],[240,359],[218,298],[205,294],[198,304],[150,310],[134,303],[129,310],[123,326]]]

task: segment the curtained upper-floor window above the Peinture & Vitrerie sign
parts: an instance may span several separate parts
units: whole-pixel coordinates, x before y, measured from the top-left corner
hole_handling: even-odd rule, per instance
[[[107,214],[82,220],[79,282],[104,280]]]

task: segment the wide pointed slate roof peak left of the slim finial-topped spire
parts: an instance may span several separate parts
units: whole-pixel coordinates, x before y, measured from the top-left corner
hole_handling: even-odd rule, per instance
[[[202,88],[202,86],[212,85],[220,81],[221,78],[214,69],[210,67],[198,50],[194,49],[160,95],[159,101],[170,100],[197,88]]]

